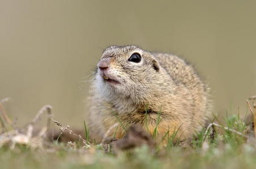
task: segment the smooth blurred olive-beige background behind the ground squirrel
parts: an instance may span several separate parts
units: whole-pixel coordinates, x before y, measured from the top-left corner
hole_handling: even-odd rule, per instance
[[[210,84],[214,113],[246,112],[256,94],[256,1],[0,0],[0,99],[18,124],[45,104],[82,126],[79,88],[110,45],[190,61]]]

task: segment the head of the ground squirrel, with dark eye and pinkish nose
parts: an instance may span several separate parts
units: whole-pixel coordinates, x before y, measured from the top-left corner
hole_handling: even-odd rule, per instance
[[[99,63],[95,85],[104,96],[118,95],[138,101],[159,90],[164,68],[153,54],[137,46],[110,46]]]

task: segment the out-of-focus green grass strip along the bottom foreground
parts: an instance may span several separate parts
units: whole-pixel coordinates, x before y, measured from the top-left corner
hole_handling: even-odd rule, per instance
[[[229,134],[227,134],[229,135]],[[233,142],[237,143],[236,145]],[[56,152],[33,150],[25,146],[0,149],[1,168],[255,168],[253,145],[221,136],[204,148],[201,143],[182,149],[173,146],[167,152],[153,154],[146,146],[117,156],[101,149],[79,153],[64,145]],[[163,153],[163,154],[161,154]]]

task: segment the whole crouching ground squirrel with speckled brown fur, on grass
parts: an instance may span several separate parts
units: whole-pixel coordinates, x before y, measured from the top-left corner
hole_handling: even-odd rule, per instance
[[[193,67],[171,54],[110,46],[97,64],[88,97],[91,138],[121,138],[137,124],[157,137],[178,130],[181,140],[202,130],[210,114],[209,88]],[[116,124],[117,126],[114,126]]]

